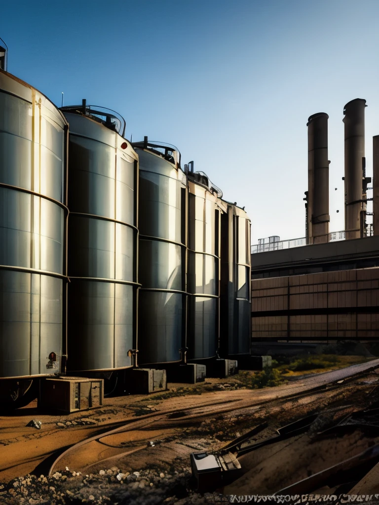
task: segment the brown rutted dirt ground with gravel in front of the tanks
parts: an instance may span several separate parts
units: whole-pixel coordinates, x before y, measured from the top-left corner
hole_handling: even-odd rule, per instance
[[[275,435],[280,426],[319,414],[309,433],[242,456],[242,475],[220,492],[272,494],[379,443],[379,432],[359,429],[331,438],[317,435],[379,402],[375,372],[322,390],[307,392],[305,384],[300,379],[250,390],[238,375],[207,379],[195,386],[170,384],[168,392],[148,397],[106,398],[101,409],[68,416],[38,412],[31,403],[0,417],[1,503],[207,503],[209,495],[197,493],[191,480],[191,452],[217,450],[263,421],[267,428],[255,442]],[[290,390],[297,395],[286,397]],[[41,421],[41,428],[26,427],[31,419]],[[118,431],[101,436],[111,429]],[[89,437],[92,442],[63,455],[51,476],[43,477],[59,449]],[[27,474],[32,476],[19,478]]]

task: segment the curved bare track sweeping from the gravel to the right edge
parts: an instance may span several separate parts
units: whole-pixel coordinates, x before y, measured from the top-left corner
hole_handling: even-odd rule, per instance
[[[379,367],[379,360],[318,374],[284,386],[264,390],[234,390],[219,392],[217,399],[199,402],[197,398],[181,398],[180,408],[162,410],[130,419],[122,426],[96,434],[61,452],[53,463],[49,461],[49,475],[65,467],[90,472],[95,466],[105,468],[118,458],[148,449],[149,441],[177,435],[186,426],[200,424],[206,418],[244,409],[258,410],[260,405],[274,399],[300,397],[318,392],[329,385],[340,387],[341,381],[354,379],[357,374]],[[209,393],[210,395],[214,393]],[[206,396],[206,395],[204,395]],[[196,402],[196,405],[194,403]],[[148,449],[149,450],[149,449]],[[152,447],[152,450],[153,447]]]

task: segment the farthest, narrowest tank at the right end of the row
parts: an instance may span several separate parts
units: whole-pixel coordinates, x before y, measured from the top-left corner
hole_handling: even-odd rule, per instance
[[[250,219],[227,203],[221,216],[220,349],[223,358],[250,353]]]

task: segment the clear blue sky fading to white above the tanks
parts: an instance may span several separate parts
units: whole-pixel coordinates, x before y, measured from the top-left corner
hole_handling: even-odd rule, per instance
[[[118,111],[126,136],[175,144],[258,238],[305,234],[307,128],[329,115],[330,229],[344,228],[344,105],[379,134],[377,0],[4,2],[8,71],[57,105]],[[337,187],[337,191],[335,191]],[[337,214],[337,210],[340,212]]]

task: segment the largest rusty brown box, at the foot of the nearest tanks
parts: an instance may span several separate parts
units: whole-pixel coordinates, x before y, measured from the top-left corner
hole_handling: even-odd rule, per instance
[[[101,407],[104,380],[83,377],[44,379],[40,382],[38,407],[66,413]]]

